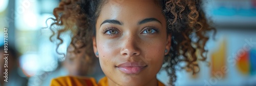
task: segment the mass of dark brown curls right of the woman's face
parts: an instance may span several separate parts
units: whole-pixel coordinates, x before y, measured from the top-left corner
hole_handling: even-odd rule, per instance
[[[198,60],[206,60],[206,55],[203,55],[207,53],[205,45],[209,37],[206,34],[215,31],[215,35],[216,29],[207,23],[199,0],[168,0],[164,5],[166,5],[163,12],[167,18],[167,30],[173,38],[163,68],[170,76],[169,84],[174,85],[177,78],[176,70],[185,69],[193,75],[200,71]],[[180,62],[185,62],[186,65],[181,67]]]

